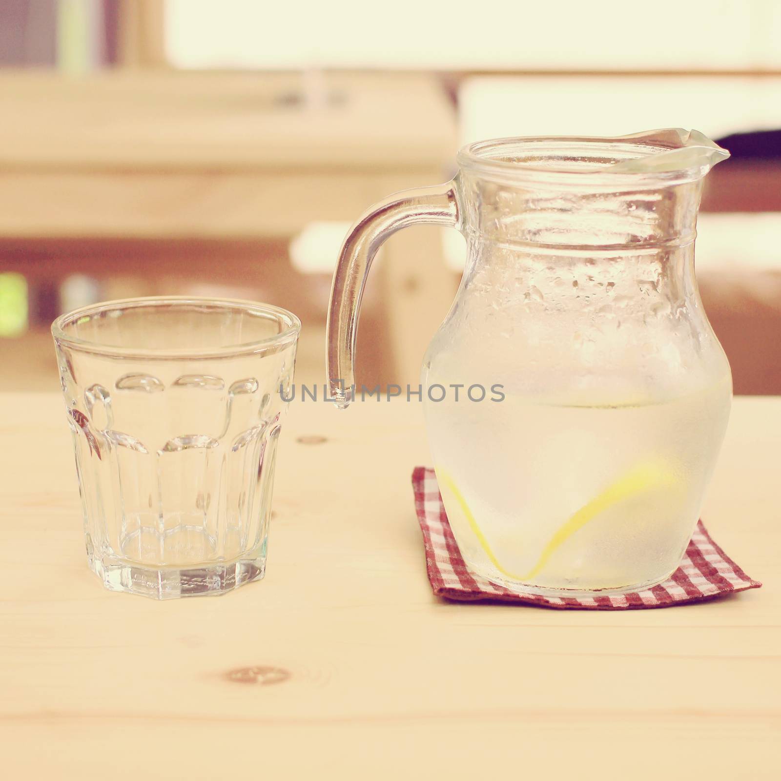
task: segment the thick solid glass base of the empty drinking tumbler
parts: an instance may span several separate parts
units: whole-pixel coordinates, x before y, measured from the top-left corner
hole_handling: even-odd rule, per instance
[[[244,583],[261,580],[265,558],[242,558],[234,562],[197,568],[144,567],[129,562],[102,562],[91,558],[90,569],[109,591],[125,591],[152,599],[218,597]]]

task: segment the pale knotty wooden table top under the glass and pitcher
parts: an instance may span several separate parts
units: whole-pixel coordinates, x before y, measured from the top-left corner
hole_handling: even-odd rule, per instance
[[[266,580],[109,593],[87,569],[61,399],[0,401],[9,778],[781,774],[781,398],[736,399],[703,511],[765,587],[629,612],[433,598],[410,487],[422,412],[376,401],[291,405]]]

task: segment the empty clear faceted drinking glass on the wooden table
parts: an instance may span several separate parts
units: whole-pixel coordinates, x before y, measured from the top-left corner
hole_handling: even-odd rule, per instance
[[[91,569],[166,599],[262,578],[299,319],[210,298],[137,298],[52,325]]]

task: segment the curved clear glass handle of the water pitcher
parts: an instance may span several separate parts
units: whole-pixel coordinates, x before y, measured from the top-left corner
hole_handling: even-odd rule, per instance
[[[328,305],[326,371],[331,398],[344,409],[355,387],[355,337],[363,288],[380,245],[402,228],[418,223],[458,225],[455,180],[391,195],[358,219],[342,244]]]

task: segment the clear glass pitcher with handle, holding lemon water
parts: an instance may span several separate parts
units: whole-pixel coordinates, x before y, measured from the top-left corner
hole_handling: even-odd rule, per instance
[[[332,397],[354,393],[358,308],[396,230],[464,234],[455,302],[423,366],[437,480],[469,568],[508,589],[621,593],[679,563],[726,430],[729,364],[694,279],[697,131],[484,141],[440,187],[366,212],[328,323]],[[462,390],[430,394],[433,386]],[[472,387],[488,393],[466,391]]]

